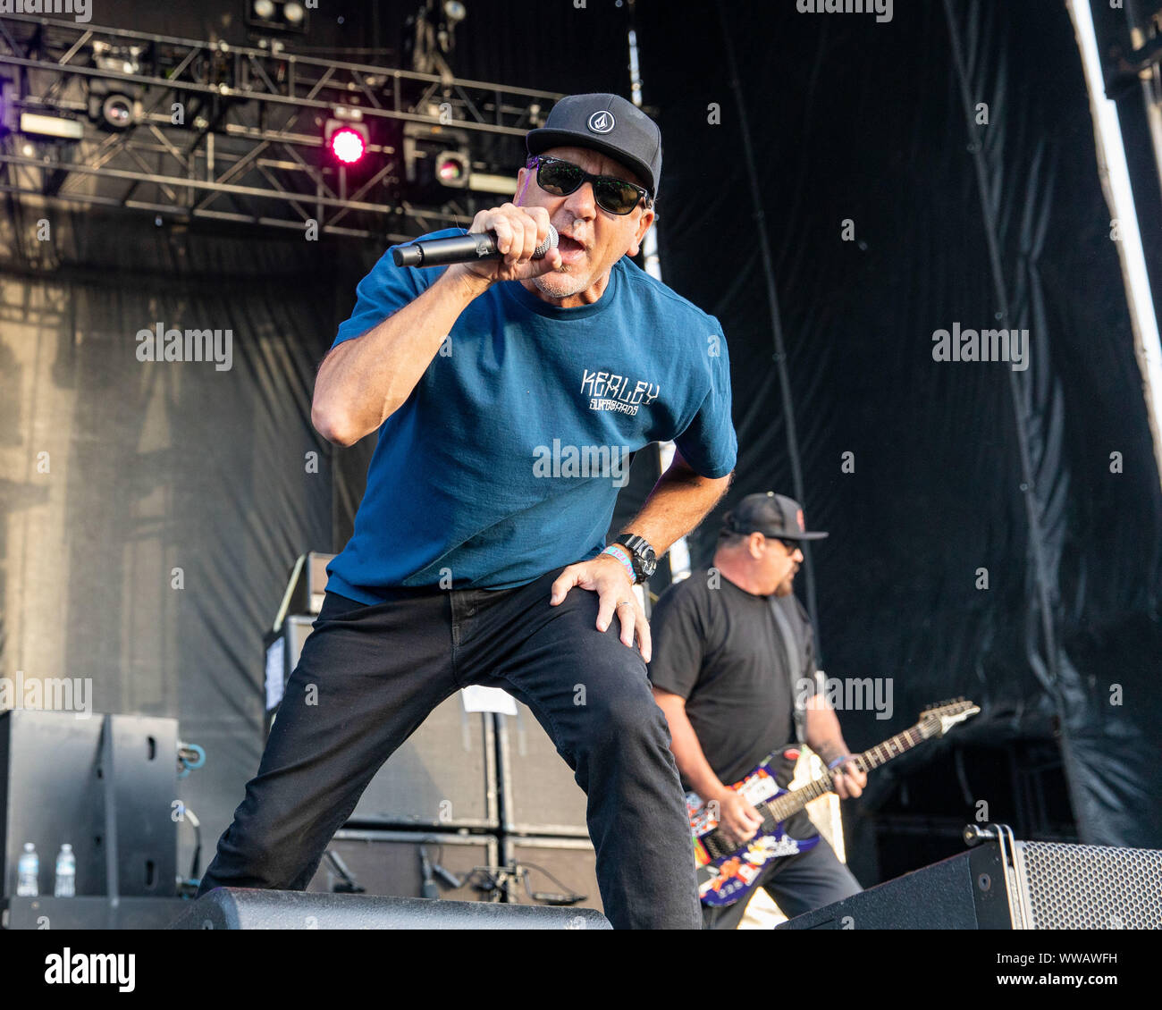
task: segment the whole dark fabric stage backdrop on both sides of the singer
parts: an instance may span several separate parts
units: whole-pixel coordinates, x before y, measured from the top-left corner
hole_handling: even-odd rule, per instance
[[[350,5],[345,27],[318,19],[316,44],[393,45],[414,6]],[[964,740],[1057,738],[1084,840],[1162,845],[1162,502],[1063,6],[896,2],[888,23],[791,0],[723,9],[637,5],[665,137],[665,280],[730,343],[741,451],[723,509],[796,493],[794,450],[809,522],[831,531],[812,554],[823,665],[892,682],[890,719],[842,714],[853,746],[968,695],[984,712]],[[172,5],[101,12],[231,37]],[[475,0],[456,70],[627,94],[626,14]],[[988,103],[988,126],[966,101]],[[9,201],[0,217],[2,673],[88,676],[98,710],[177,716],[208,750],[181,798],[211,850],[257,769],[261,635],[287,566],[340,547],[361,492],[370,446],[332,450],[309,403],[382,250],[46,215],[52,243],[31,237],[40,212]],[[231,329],[232,370],[143,366],[135,335],[158,322]],[[933,331],[954,323],[1027,328],[1028,368],[933,361]],[[693,538],[700,561],[720,511]]]

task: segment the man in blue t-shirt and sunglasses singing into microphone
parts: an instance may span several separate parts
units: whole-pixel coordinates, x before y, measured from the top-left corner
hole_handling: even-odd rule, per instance
[[[379,442],[200,893],[306,888],[380,765],[444,699],[486,685],[529,705],[588,794],[611,923],[702,924],[632,586],[726,490],[725,342],[627,258],[654,220],[651,119],[617,95],[572,95],[526,146],[516,203],[472,222],[503,258],[416,268],[385,255],[320,366],[318,431]],[[559,249],[533,259],[550,224]],[[668,439],[673,465],[607,546],[617,461]]]

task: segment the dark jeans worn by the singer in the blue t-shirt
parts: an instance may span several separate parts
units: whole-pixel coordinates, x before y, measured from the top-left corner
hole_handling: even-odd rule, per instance
[[[559,574],[515,589],[393,590],[374,606],[328,593],[199,895],[304,890],[383,761],[476,683],[529,705],[588,795],[614,926],[700,929],[689,821],[646,665],[616,617],[597,631],[596,593],[550,606]]]

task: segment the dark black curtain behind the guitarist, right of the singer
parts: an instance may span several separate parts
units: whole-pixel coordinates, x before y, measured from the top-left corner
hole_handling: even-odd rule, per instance
[[[811,553],[823,665],[894,682],[890,721],[841,715],[848,743],[964,695],[983,712],[961,739],[1059,739],[1083,840],[1162,844],[1162,501],[1064,6],[639,15],[664,271],[731,350],[740,458],[718,514],[794,494],[798,452],[809,524],[831,531]],[[1027,368],[934,360],[954,325],[1027,329]]]

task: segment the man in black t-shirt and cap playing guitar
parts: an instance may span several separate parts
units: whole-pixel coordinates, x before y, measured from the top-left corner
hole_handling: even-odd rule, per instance
[[[813,682],[816,665],[811,624],[791,587],[801,542],[825,536],[806,531],[798,502],[773,492],[747,495],[725,516],[713,567],[667,589],[650,617],[650,680],[682,785],[704,802],[717,801],[720,826],[738,844],[755,834],[761,818],[730,786],[773,752],[782,788],[794,774],[798,740],[839,773],[840,798],[859,796],[867,785],[823,697],[801,699],[798,711],[795,704],[796,682]],[[786,829],[796,839],[817,833],[804,812]],[[789,917],[861,889],[823,838],[772,859],[754,886]],[[737,929],[746,904],[703,905],[705,927]]]

